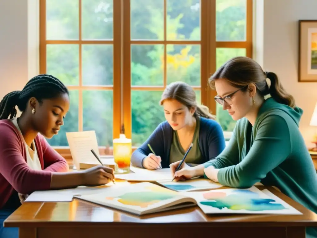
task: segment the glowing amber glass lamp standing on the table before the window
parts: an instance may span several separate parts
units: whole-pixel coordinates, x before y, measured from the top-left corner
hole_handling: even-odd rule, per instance
[[[126,138],[124,125],[122,125],[119,138],[113,139],[113,159],[116,173],[130,172],[132,154],[131,141],[131,139]]]

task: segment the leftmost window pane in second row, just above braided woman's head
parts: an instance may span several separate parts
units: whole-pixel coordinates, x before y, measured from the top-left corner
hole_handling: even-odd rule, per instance
[[[46,46],[46,72],[65,85],[79,84],[79,46],[52,44]]]

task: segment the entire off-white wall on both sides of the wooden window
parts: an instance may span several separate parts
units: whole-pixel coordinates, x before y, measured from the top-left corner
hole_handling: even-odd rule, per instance
[[[300,130],[308,146],[317,83],[298,83],[298,20],[317,19],[315,0],[255,0],[255,58],[275,72],[304,110]],[[264,10],[264,12],[263,12]],[[0,1],[0,98],[38,74],[38,0]]]

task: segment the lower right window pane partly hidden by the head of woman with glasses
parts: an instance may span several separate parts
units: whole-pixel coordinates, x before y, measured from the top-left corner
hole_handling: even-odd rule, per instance
[[[239,48],[217,48],[216,67],[217,69],[236,56],[246,56],[246,50]],[[236,121],[232,119],[227,110],[223,110],[222,105],[216,102],[216,120],[220,123],[224,131],[233,131]]]

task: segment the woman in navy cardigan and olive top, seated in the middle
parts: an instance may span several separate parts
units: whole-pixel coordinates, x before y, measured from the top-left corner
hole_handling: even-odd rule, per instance
[[[164,108],[166,121],[160,123],[146,142],[133,152],[133,166],[169,168],[171,163],[183,159],[191,143],[193,147],[185,159],[187,164],[202,164],[223,151],[222,128],[206,106],[197,105],[195,91],[190,85],[184,82],[169,84],[160,105]]]

